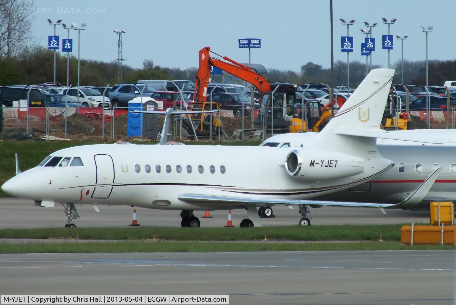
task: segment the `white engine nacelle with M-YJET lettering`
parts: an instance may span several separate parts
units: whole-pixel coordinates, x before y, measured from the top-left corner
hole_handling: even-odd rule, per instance
[[[295,149],[288,153],[285,168],[290,176],[301,180],[337,179],[363,173],[364,159],[345,153]]]

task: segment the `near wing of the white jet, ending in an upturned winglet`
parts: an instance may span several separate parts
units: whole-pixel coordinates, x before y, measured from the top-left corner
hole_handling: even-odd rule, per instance
[[[331,205],[331,206],[356,206],[356,207],[378,207],[389,208],[398,206],[410,206],[420,203],[430,188],[437,179],[443,167],[438,168],[432,173],[428,179],[425,180],[406,200],[397,203],[367,203],[367,202],[343,202],[343,201],[324,201],[324,200],[287,200],[287,199],[257,199],[249,197],[232,197],[220,195],[202,195],[202,194],[181,194],[178,196],[179,200],[191,203],[193,205],[207,206],[210,203],[223,204],[223,205]]]

